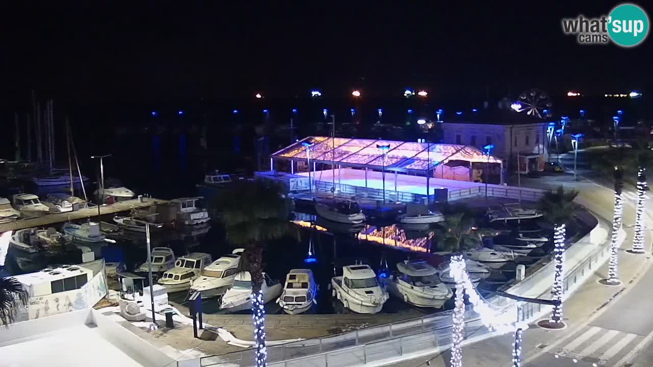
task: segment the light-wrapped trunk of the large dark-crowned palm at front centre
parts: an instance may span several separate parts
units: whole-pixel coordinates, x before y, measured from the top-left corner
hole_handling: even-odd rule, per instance
[[[254,342],[256,343],[256,365],[264,367],[268,361],[265,347],[265,309],[263,300],[263,272],[261,271],[263,249],[257,247],[249,251],[249,274],[251,274],[251,315],[254,319]]]

